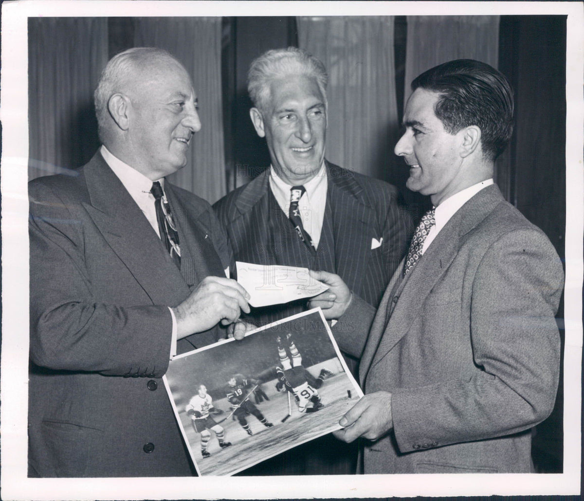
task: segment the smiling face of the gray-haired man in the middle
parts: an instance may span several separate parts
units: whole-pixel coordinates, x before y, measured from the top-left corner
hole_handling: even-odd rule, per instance
[[[265,135],[272,165],[290,185],[314,178],[325,154],[326,106],[317,81],[291,75],[270,83],[270,99],[256,124]]]

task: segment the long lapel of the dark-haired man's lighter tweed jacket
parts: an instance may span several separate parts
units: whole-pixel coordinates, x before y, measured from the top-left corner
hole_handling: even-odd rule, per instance
[[[488,186],[467,201],[444,225],[411,275],[392,291],[399,300],[387,322],[371,366],[377,364],[408,332],[427,295],[443,276],[460,249],[460,239],[503,200],[498,187]],[[398,269],[396,274],[401,273]],[[393,281],[393,279],[392,279]],[[387,307],[387,301],[385,302]],[[384,314],[383,314],[384,315]],[[382,315],[378,315],[382,316]],[[367,368],[368,370],[369,368]]]

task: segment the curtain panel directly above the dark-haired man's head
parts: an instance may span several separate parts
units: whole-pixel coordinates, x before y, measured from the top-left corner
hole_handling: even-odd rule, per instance
[[[408,16],[405,102],[420,73],[453,59],[498,67],[499,16]]]

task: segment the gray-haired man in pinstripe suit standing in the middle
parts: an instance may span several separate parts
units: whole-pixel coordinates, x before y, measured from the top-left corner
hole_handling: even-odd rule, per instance
[[[327,75],[306,51],[270,50],[252,62],[248,91],[251,120],[265,137],[272,165],[252,182],[214,205],[235,259],[260,265],[302,266],[338,273],[349,287],[377,307],[407,249],[412,224],[398,206],[394,186],[326,161]],[[252,310],[265,325],[306,309],[294,301]],[[354,368],[352,360],[348,360]],[[258,474],[326,474],[354,471],[334,441],[304,446]],[[324,451],[322,460],[317,450]],[[260,469],[261,468],[261,469]]]

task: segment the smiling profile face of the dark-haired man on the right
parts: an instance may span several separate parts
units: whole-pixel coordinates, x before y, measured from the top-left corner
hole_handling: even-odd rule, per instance
[[[434,114],[439,98],[422,88],[412,93],[404,113],[406,130],[394,150],[409,165],[408,188],[430,195],[434,206],[459,191],[462,177],[460,133],[448,133]]]

